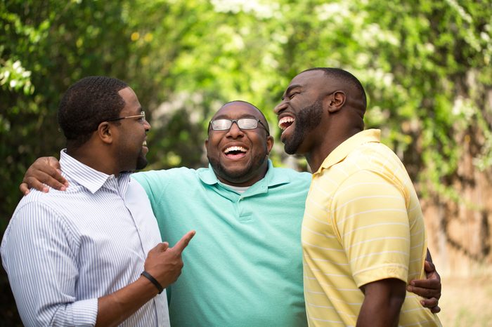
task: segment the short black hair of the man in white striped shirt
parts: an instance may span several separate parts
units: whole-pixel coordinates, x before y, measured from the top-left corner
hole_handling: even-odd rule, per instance
[[[67,146],[84,145],[99,124],[116,118],[125,105],[118,92],[127,87],[124,81],[107,76],[89,76],[72,84],[58,106],[58,124]]]

